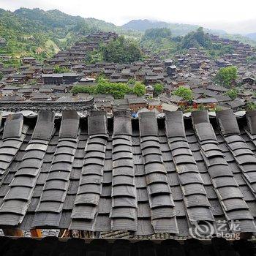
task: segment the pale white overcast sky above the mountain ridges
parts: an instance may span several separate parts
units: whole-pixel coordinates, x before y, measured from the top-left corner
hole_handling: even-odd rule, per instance
[[[58,9],[120,26],[132,19],[190,23],[230,33],[256,32],[256,0],[0,0],[0,7]]]

